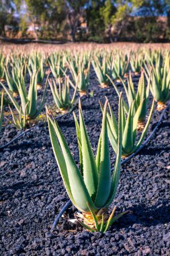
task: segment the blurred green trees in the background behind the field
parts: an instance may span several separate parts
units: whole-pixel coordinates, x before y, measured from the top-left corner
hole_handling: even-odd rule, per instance
[[[170,0],[0,0],[0,20],[12,38],[170,40]]]

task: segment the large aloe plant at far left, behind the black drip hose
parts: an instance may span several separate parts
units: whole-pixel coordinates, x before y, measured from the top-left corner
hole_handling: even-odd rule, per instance
[[[46,86],[44,88],[44,94],[42,96],[42,100],[39,106],[38,106],[38,96],[37,96],[37,72],[33,73],[33,75],[30,77],[30,86],[29,86],[28,93],[26,90],[26,85],[24,82],[23,75],[21,75],[21,77],[18,77],[17,83],[18,83],[17,89],[18,89],[21,106],[19,106],[17,100],[15,100],[10,90],[2,83],[1,83],[1,86],[3,86],[3,89],[5,90],[11,102],[13,103],[13,106],[15,107],[15,110],[19,115],[19,119],[22,116],[23,117],[26,116],[27,121],[29,121],[30,119],[35,119],[40,114],[42,108],[44,107],[47,81],[46,81]]]

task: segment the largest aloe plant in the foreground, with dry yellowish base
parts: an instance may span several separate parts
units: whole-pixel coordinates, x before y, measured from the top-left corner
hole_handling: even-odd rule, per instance
[[[79,222],[91,232],[105,232],[116,219],[124,214],[122,213],[114,217],[114,209],[106,222],[104,214],[101,214],[101,210],[107,208],[116,195],[120,176],[122,151],[122,123],[119,121],[118,150],[116,164],[112,174],[106,118],[107,105],[108,100],[105,102],[103,109],[103,120],[96,158],[93,155],[87,130],[85,128],[81,104],[79,104],[79,122],[74,114],[79,143],[80,170],[73,159],[67,141],[62,135],[52,113],[50,113],[48,109],[46,111],[52,148],[62,181],[65,184],[65,188],[71,201],[82,213],[81,218],[83,218],[83,222],[80,220]],[[119,120],[121,119],[122,97],[120,97],[119,105]]]

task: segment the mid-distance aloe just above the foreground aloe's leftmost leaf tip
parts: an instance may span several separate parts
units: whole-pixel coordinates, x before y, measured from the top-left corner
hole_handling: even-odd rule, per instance
[[[50,89],[57,110],[59,110],[62,113],[67,112],[75,102],[77,86],[75,86],[75,92],[71,98],[69,76],[65,76],[64,82],[58,81],[58,84],[56,84],[54,79],[48,79],[48,83],[50,85]]]

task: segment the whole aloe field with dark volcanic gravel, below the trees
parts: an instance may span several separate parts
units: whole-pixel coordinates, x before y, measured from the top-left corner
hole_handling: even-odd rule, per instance
[[[170,255],[170,44],[0,46],[1,255]]]

